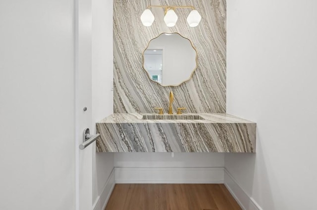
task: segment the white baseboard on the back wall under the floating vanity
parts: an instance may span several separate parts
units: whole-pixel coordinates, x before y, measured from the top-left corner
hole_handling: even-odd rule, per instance
[[[223,183],[223,167],[115,168],[115,183]]]

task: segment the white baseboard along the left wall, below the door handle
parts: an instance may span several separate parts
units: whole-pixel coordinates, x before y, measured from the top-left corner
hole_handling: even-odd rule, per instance
[[[106,209],[106,205],[107,205],[107,202],[110,198],[110,195],[112,193],[112,190],[113,190],[113,187],[114,187],[114,184],[115,184],[115,179],[114,179],[114,168],[112,169],[107,181],[106,181],[106,184],[103,188],[103,191],[102,193],[97,197],[94,205],[93,205],[93,210],[104,210]]]

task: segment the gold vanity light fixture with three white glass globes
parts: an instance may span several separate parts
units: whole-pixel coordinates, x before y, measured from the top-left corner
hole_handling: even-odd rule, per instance
[[[164,22],[166,26],[173,27],[175,26],[178,17],[175,13],[176,8],[190,8],[192,11],[189,13],[187,17],[187,23],[190,27],[196,27],[198,26],[199,22],[202,19],[202,16],[199,14],[199,12],[193,7],[193,6],[148,6],[146,10],[143,11],[141,15],[141,21],[144,26],[151,26],[154,22],[154,15],[151,12],[151,7],[159,7],[164,8]]]

